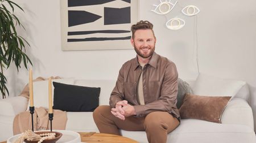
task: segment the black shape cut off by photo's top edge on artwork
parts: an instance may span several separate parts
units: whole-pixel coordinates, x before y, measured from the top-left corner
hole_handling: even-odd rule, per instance
[[[90,5],[101,5],[116,0],[68,0],[68,7],[73,6],[90,6]]]

